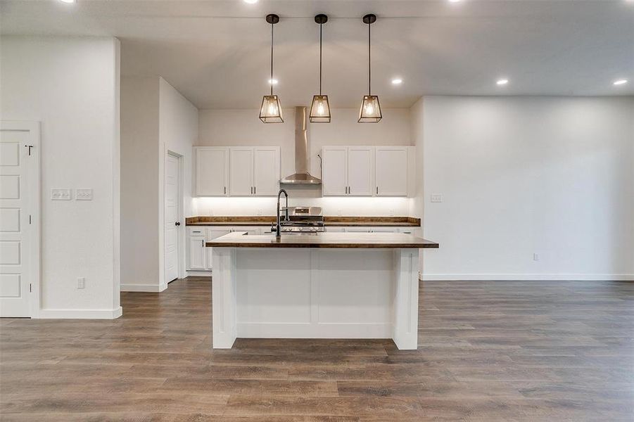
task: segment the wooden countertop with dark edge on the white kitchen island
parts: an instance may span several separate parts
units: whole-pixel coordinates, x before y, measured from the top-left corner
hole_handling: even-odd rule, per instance
[[[438,243],[404,233],[315,233],[247,235],[235,231],[205,243],[208,248],[438,248]]]

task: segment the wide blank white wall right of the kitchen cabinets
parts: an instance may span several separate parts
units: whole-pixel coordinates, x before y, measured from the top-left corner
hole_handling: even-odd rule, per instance
[[[425,279],[634,279],[634,98],[426,97],[413,110],[424,236],[440,243]]]

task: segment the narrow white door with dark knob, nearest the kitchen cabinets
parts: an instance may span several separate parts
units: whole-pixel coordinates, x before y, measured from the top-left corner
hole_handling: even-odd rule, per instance
[[[165,159],[165,283],[178,278],[179,251],[179,158],[167,153]]]

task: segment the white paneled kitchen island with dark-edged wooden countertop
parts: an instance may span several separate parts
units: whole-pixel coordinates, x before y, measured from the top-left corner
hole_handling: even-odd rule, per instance
[[[213,347],[236,338],[392,338],[417,348],[419,249],[410,234],[234,232],[213,248]]]

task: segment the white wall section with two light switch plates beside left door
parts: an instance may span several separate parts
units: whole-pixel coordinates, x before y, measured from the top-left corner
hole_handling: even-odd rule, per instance
[[[116,317],[119,41],[1,37],[0,44],[0,118],[42,124],[39,316]],[[94,199],[51,201],[51,188],[92,188]]]

